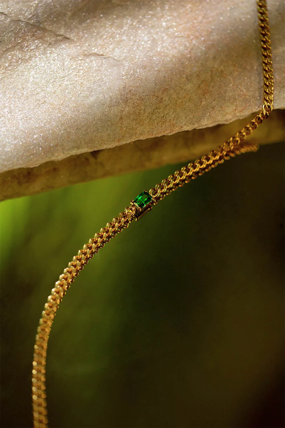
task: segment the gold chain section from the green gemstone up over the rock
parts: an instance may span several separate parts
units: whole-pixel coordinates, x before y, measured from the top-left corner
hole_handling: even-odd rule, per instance
[[[237,132],[234,137],[231,137],[229,140],[221,144],[221,146],[216,150],[212,150],[208,155],[205,155],[194,162],[188,163],[187,166],[183,166],[183,168],[174,172],[173,175],[169,175],[169,177],[162,180],[161,183],[156,184],[153,189],[150,189],[149,193],[153,197],[153,204],[156,204],[170,192],[183,186],[183,184],[197,178],[198,175],[203,175],[219,163],[223,163],[224,160],[228,160],[240,153],[254,152],[258,149],[258,146],[244,143],[244,140],[254,129],[258,127],[258,125],[262,123],[264,119],[267,119],[269,113],[273,110],[273,68],[266,1],[258,1],[257,7],[261,36],[264,84],[263,105],[261,111],[254,116],[248,125],[246,125],[241,131]]]

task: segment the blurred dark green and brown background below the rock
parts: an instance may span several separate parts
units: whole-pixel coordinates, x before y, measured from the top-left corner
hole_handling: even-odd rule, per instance
[[[181,165],[2,202],[2,427],[73,255]],[[50,427],[284,427],[284,144],[177,190],[100,251],[50,335]]]

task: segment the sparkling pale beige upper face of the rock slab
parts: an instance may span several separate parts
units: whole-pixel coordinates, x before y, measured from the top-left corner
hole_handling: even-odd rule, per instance
[[[268,7],[284,108],[284,3]],[[3,0],[0,11],[1,171],[262,105],[255,0]]]

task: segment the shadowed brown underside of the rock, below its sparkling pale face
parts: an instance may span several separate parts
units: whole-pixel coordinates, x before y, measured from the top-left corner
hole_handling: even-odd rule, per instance
[[[243,124],[244,119],[227,125],[193,129],[134,141],[112,149],[82,153],[45,162],[33,168],[5,171],[0,174],[0,199],[33,195],[96,178],[154,169],[170,163],[187,163],[205,155],[229,135],[234,135]],[[284,128],[284,111],[274,110],[270,118],[248,137],[248,141],[253,144],[284,141]]]

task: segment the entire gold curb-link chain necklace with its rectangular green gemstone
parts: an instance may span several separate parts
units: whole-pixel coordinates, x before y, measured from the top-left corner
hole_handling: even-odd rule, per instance
[[[263,84],[264,84],[264,100],[260,113],[258,113],[248,125],[241,131],[224,142],[216,150],[212,150],[208,155],[183,166],[173,175],[156,184],[149,193],[144,191],[137,198],[131,201],[130,206],[125,208],[120,215],[113,219],[111,223],[107,223],[106,227],[96,233],[94,238],[89,239],[88,244],[84,245],[77,256],[73,257],[72,262],[68,263],[68,268],[59,276],[59,281],[56,282],[50,296],[47,298],[47,303],[44,305],[44,311],[41,314],[37,335],[35,338],[34,360],[32,368],[32,405],[33,405],[33,421],[35,428],[47,427],[47,395],[46,395],[46,357],[47,357],[47,342],[49,339],[50,329],[53,324],[53,318],[62,301],[62,297],[78,275],[80,270],[87,265],[94,254],[98,253],[100,248],[110,241],[111,238],[122,232],[123,229],[129,226],[133,220],[137,220],[144,212],[149,211],[152,205],[155,205],[160,199],[163,199],[177,187],[183,186],[190,180],[197,178],[198,175],[203,175],[205,172],[223,163],[225,160],[235,157],[246,152],[256,152],[258,146],[250,143],[244,143],[248,135],[257,128],[264,119],[267,119],[269,113],[273,109],[273,69],[272,55],[270,43],[270,29],[267,17],[266,0],[257,1],[259,30],[261,36],[261,51],[263,62]],[[148,199],[149,198],[149,199]]]

